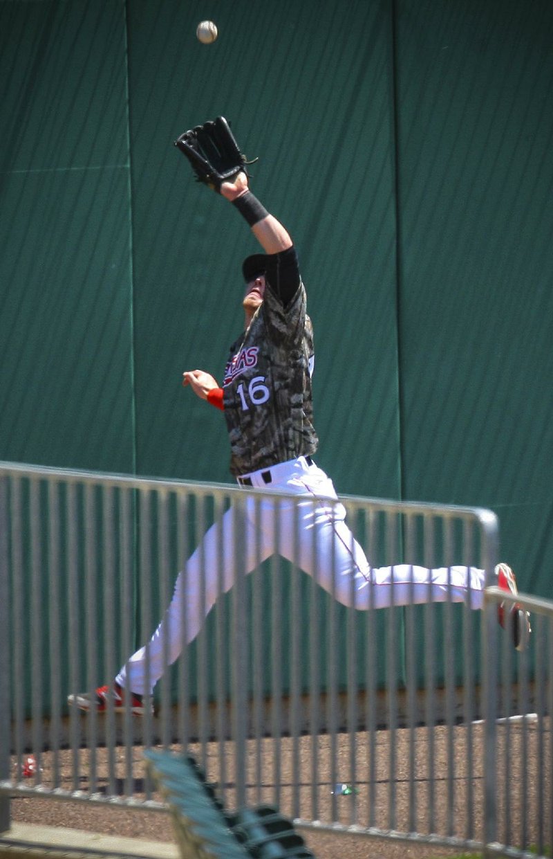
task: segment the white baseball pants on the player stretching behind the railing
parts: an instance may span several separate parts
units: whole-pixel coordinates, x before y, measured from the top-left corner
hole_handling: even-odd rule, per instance
[[[219,594],[231,589],[237,557],[249,573],[277,552],[314,576],[345,606],[357,609],[463,602],[469,600],[469,593],[470,606],[482,607],[484,570],[466,566],[429,570],[412,564],[371,567],[346,526],[346,510],[337,502],[334,485],[325,472],[304,457],[267,471],[247,476],[253,488],[293,493],[305,500],[275,499],[267,493],[257,499],[247,497],[243,505],[227,510],[221,521],[209,528],[186,569],[177,576],[161,623],[147,645],[117,674],[119,685],[141,695],[153,691],[165,668],[196,637]],[[205,593],[202,575],[206,578]]]

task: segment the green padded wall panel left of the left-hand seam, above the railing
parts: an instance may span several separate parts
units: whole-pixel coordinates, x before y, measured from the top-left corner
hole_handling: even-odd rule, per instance
[[[0,458],[134,468],[122,3],[0,3]]]

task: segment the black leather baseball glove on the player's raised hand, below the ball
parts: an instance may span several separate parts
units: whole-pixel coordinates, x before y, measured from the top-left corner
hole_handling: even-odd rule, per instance
[[[213,122],[196,125],[184,131],[175,141],[175,146],[186,155],[196,180],[220,192],[221,183],[230,180],[241,170],[248,174],[246,161],[225,117],[218,116]]]

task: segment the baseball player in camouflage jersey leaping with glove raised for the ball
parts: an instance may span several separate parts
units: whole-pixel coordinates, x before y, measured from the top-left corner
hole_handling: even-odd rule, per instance
[[[183,374],[183,385],[224,412],[231,473],[240,486],[299,498],[295,503],[275,500],[270,492],[249,497],[239,524],[231,507],[189,557],[185,575],[177,576],[171,603],[146,646],[92,698],[87,693],[70,696],[69,701],[82,710],[104,711],[109,698],[116,711],[124,709],[126,698],[135,714],[151,707],[154,685],[183,645],[195,638],[217,599],[221,572],[225,592],[235,581],[237,534],[247,572],[278,552],[315,576],[346,606],[384,608],[449,599],[462,602],[469,597],[472,608],[483,605],[484,570],[466,566],[428,570],[412,564],[371,567],[346,525],[346,511],[332,481],[313,460],[318,444],[311,399],[313,330],[292,239],[249,190],[245,159],[225,119],[185,132],[176,145],[189,158],[197,178],[248,222],[263,250],[243,261],[244,328],[231,345],[222,384],[206,371],[192,369]],[[202,575],[207,576],[205,593]],[[500,588],[517,593],[507,564],[497,566],[496,576]],[[524,649],[530,635],[528,613],[518,605],[508,611],[502,605],[498,619],[515,648]]]

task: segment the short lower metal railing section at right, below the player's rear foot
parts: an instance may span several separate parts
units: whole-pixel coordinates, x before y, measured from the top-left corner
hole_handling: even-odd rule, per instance
[[[497,606],[531,612],[532,649],[500,646]],[[484,840],[490,856],[517,855],[514,846],[550,856],[553,845],[553,602],[487,588],[484,600],[488,661]],[[516,682],[514,683],[514,677]],[[496,718],[494,718],[494,714]]]

